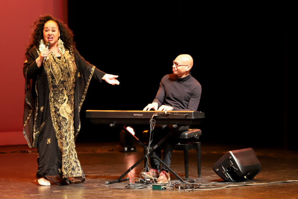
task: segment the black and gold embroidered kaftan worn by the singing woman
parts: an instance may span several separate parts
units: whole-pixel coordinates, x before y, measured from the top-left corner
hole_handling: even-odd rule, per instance
[[[41,42],[39,49],[30,50],[24,63],[24,136],[29,147],[38,149],[37,178],[68,184],[68,177],[85,180],[75,150],[79,112],[91,77],[101,81],[105,73],[59,42],[61,57],[51,53],[38,68],[35,59],[44,48]]]

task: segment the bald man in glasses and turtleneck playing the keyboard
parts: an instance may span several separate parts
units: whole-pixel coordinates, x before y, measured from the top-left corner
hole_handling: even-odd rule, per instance
[[[143,111],[154,109],[156,111],[196,111],[201,97],[200,83],[190,75],[190,69],[193,67],[193,58],[190,55],[182,54],[173,61],[173,73],[165,75],[159,85],[156,97],[151,104],[148,104]],[[154,146],[165,134],[170,132],[171,125],[156,125],[150,146]],[[188,130],[189,126],[180,127],[181,132]],[[163,143],[164,163],[170,167],[173,138]],[[160,149],[154,153],[161,157]],[[170,181],[169,170],[162,166],[154,157],[150,159],[151,168],[149,172],[143,174],[149,178],[155,178],[158,184],[168,183]]]

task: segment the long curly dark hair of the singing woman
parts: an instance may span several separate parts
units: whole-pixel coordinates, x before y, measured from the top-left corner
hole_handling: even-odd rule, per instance
[[[60,39],[63,41],[64,48],[67,50],[73,50],[73,48],[75,48],[75,42],[73,39],[74,34],[72,33],[72,30],[70,30],[69,27],[60,20],[55,19],[50,15],[45,15],[38,17],[34,24],[31,26],[34,28],[34,31],[31,34],[30,43],[26,49],[25,57],[29,55],[29,50],[31,48],[33,48],[34,46],[36,48],[39,47],[41,39],[44,38],[44,24],[50,20],[58,24]]]

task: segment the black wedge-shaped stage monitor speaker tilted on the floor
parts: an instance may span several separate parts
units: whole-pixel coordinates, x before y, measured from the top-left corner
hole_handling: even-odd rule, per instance
[[[261,170],[260,162],[252,148],[228,151],[212,167],[213,171],[228,182],[251,180]]]

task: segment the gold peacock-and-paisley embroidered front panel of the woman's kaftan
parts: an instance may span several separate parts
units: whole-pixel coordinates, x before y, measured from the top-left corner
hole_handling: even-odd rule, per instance
[[[51,53],[44,64],[44,69],[49,82],[52,123],[62,154],[62,169],[59,172],[62,172],[63,177],[76,177],[83,175],[75,150],[73,125],[77,67],[68,50],[59,48],[59,51],[61,59]]]

